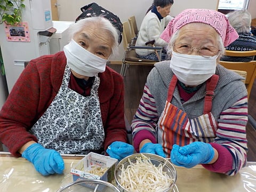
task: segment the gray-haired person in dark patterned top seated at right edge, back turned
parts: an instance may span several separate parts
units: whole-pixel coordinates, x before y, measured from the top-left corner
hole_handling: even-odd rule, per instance
[[[228,20],[239,37],[226,47],[230,51],[253,51],[256,50],[256,37],[251,33],[251,14],[247,10],[236,10],[227,14]],[[249,62],[252,57],[229,57],[223,55],[222,61]]]

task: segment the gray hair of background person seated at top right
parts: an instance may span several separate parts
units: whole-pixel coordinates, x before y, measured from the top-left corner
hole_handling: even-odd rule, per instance
[[[251,14],[247,10],[236,10],[227,14],[230,25],[234,27],[238,34],[248,34],[251,29]]]

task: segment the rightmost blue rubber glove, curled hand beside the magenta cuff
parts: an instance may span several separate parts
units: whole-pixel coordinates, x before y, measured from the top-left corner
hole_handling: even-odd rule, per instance
[[[172,146],[171,162],[178,166],[191,168],[197,164],[206,164],[214,157],[213,147],[209,143],[195,141],[184,147]]]

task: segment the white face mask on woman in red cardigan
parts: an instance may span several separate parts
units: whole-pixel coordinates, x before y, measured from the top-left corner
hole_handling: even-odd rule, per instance
[[[63,51],[67,58],[67,65],[79,75],[93,77],[105,71],[107,60],[87,51],[74,39],[63,47]]]

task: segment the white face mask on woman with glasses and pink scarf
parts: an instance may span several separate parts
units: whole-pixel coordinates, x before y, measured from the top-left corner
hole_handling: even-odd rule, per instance
[[[200,85],[215,74],[217,55],[203,57],[172,52],[170,68],[185,85]]]

